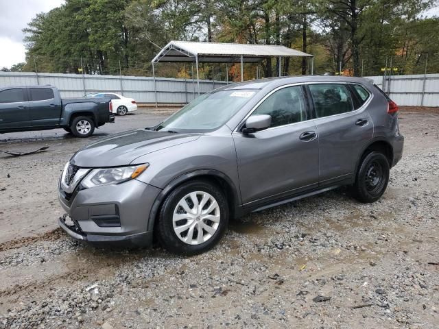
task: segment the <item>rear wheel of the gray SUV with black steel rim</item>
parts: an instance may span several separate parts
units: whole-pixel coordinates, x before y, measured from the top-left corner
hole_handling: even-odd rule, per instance
[[[390,167],[384,154],[372,151],[359,165],[352,191],[359,202],[371,203],[383,195],[389,182]]]

